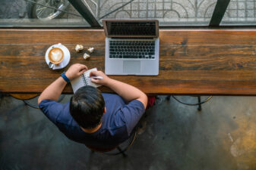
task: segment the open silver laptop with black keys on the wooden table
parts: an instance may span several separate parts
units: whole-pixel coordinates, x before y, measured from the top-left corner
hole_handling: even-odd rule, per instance
[[[103,20],[107,75],[159,74],[158,20]]]

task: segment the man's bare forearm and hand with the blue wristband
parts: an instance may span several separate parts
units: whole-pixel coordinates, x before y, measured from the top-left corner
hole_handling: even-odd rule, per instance
[[[78,76],[81,76],[87,70],[87,66],[76,63],[69,67],[68,71],[65,75],[68,79],[73,80]],[[60,94],[62,94],[63,89],[67,85],[67,82],[62,78],[58,77],[51,85],[49,85],[43,93],[38,98],[38,104],[41,103],[42,100],[58,100]]]

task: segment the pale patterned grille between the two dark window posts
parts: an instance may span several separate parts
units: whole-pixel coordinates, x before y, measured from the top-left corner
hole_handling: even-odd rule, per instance
[[[97,18],[114,11],[129,0],[103,0],[98,2]],[[216,0],[135,0],[105,18],[153,18],[162,24],[204,23],[207,25],[213,14]]]

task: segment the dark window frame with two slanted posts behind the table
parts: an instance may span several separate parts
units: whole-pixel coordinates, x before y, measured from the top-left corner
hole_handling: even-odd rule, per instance
[[[58,26],[54,25],[54,21],[44,21],[40,23],[40,20],[38,22],[32,22],[32,23],[26,23],[21,24],[19,22],[15,23],[12,22],[11,25],[8,25],[8,19],[6,21],[2,22],[2,25],[0,28],[6,28],[6,27],[14,27],[14,28],[85,28],[85,29],[103,29],[103,26],[100,25],[99,21],[96,20],[96,17],[93,16],[93,14],[90,12],[90,10],[87,8],[87,6],[81,1],[81,0],[68,0],[68,2],[73,5],[73,7],[77,10],[79,14],[81,14],[81,17],[84,18],[84,20],[87,21],[89,26],[85,26],[84,23],[79,22],[68,22],[67,23],[60,23]],[[230,0],[217,0],[216,6],[213,10],[213,15],[210,18],[210,23],[206,26],[202,26],[200,24],[198,25],[184,25],[184,26],[177,26],[177,25],[169,25],[169,26],[160,26],[160,29],[191,29],[191,28],[200,28],[200,29],[209,29],[209,28],[250,28],[254,27],[255,25],[220,25],[224,14],[226,13],[226,10],[229,6]],[[18,20],[18,19],[14,19]],[[47,23],[47,24],[46,24]]]

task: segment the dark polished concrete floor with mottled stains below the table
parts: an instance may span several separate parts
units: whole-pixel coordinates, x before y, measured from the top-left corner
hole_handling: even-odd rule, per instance
[[[213,97],[201,112],[165,96],[156,103],[124,158],[91,153],[40,110],[2,96],[0,169],[256,169],[256,97]]]

